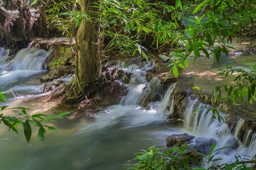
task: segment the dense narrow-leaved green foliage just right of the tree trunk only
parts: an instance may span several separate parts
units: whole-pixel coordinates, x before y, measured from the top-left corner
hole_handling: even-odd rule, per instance
[[[163,2],[151,3],[148,0],[100,1],[95,7],[98,11],[94,16],[101,26],[99,38],[102,44],[105,38],[110,39],[102,54],[113,49],[121,54],[133,55],[138,51],[147,60],[148,55],[144,52],[147,49],[139,42],[150,35],[153,37],[152,44],[158,47],[177,36],[177,20],[182,18],[182,14],[175,7]],[[170,15],[173,22],[163,20],[160,14]]]

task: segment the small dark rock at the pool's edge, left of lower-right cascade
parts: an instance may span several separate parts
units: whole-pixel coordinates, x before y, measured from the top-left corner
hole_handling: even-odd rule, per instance
[[[194,139],[195,136],[189,136],[187,133],[183,134],[173,134],[166,138],[166,146],[169,147],[180,147],[182,144],[189,144],[189,142]]]

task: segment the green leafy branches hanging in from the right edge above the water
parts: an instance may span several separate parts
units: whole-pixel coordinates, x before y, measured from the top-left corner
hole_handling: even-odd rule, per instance
[[[174,38],[173,41],[182,41],[186,45],[182,50],[176,50],[176,57],[181,57],[180,60],[174,61],[170,72],[173,72],[175,77],[178,76],[177,67],[184,68],[183,62],[186,58],[194,52],[194,62],[200,57],[199,50],[204,52],[209,59],[210,54],[218,62],[222,54],[229,55],[227,48],[232,44],[233,37],[244,35],[244,26],[252,26],[256,19],[256,9],[253,5],[253,0],[204,0],[194,10],[193,14],[201,11],[201,17],[194,16],[190,20],[192,23],[184,29],[184,34]],[[210,10],[204,10],[206,7]],[[217,42],[218,44],[215,44]],[[207,51],[209,49],[211,52]],[[249,102],[252,103],[251,97],[254,97],[254,90],[252,93],[251,86],[253,86],[255,68],[250,68],[251,71],[244,71],[244,69],[233,69],[228,66],[221,74],[227,77],[229,73],[238,74],[235,79],[237,85],[221,86],[225,91],[229,91],[228,97],[224,98],[226,101],[233,103],[235,99],[240,98],[244,104],[244,95],[249,97]],[[169,73],[170,73],[169,72]],[[239,79],[240,78],[240,79]],[[242,79],[242,81],[240,81]],[[213,94],[218,99],[221,99],[221,87],[215,87]],[[248,89],[248,87],[250,87]],[[247,90],[245,89],[247,88]],[[230,90],[229,90],[230,89]]]

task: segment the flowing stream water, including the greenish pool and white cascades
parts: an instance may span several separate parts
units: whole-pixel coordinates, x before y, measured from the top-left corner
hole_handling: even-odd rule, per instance
[[[2,53],[1,53],[2,51]],[[119,170],[123,169],[126,161],[134,158],[133,153],[156,144],[165,147],[165,139],[172,134],[189,133],[197,136],[194,143],[213,139],[217,148],[232,146],[216,152],[215,159],[223,158],[218,163],[233,161],[233,155],[241,153],[254,155],[256,150],[256,133],[248,130],[243,142],[238,135],[243,124],[241,119],[231,132],[225,123],[212,121],[211,115],[204,116],[205,110],[192,115],[195,109],[207,106],[195,96],[191,96],[186,108],[185,120],[169,120],[172,114],[173,99],[169,96],[175,88],[171,85],[164,93],[158,79],[147,82],[146,70],[151,67],[144,63],[138,64],[140,58],[135,58],[125,71],[132,71],[129,92],[119,105],[87,111],[74,111],[70,108],[58,107],[58,103],[46,101],[41,85],[36,78],[47,74],[44,66],[49,52],[36,47],[23,49],[11,62],[4,62],[8,51],[0,51],[1,90],[6,91],[12,82],[12,90],[22,93],[22,99],[8,95],[8,105],[30,108],[30,114],[60,113],[70,111],[70,115],[49,125],[58,130],[58,134],[47,131],[45,141],[37,139],[37,128],[32,127],[32,139],[28,144],[22,134],[9,131],[6,127],[0,129],[0,169],[2,170]],[[243,57],[243,56],[240,56]],[[246,57],[246,56],[245,56]],[[232,59],[232,56],[228,59]],[[2,61],[3,60],[3,61]],[[234,59],[236,61],[236,59]],[[212,65],[215,63],[212,62]],[[220,66],[219,66],[220,67]],[[189,69],[189,68],[188,68]],[[198,68],[199,69],[199,68]],[[209,71],[211,72],[211,67]],[[217,66],[215,67],[217,69]],[[196,70],[202,72],[202,70]],[[189,73],[189,70],[188,70]],[[201,80],[200,75],[192,76],[191,81]],[[203,76],[204,77],[204,76]],[[65,82],[70,81],[70,77]],[[217,82],[212,80],[213,82]],[[223,82],[222,82],[223,83]],[[210,84],[210,83],[209,83]],[[209,84],[198,85],[207,88]],[[143,91],[143,89],[145,90]],[[151,102],[148,110],[137,105],[151,92],[161,96],[161,100]],[[39,94],[38,94],[39,93]],[[12,114],[7,112],[6,114]]]

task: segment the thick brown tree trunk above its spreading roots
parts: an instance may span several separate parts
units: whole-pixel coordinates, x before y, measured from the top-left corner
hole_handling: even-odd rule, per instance
[[[82,0],[81,11],[92,15],[90,11],[96,11],[93,3],[98,0]],[[92,82],[100,77],[101,74],[101,49],[99,48],[99,38],[97,31],[99,23],[83,20],[78,29],[76,40],[78,49],[78,63],[76,63],[76,74],[79,82]]]

